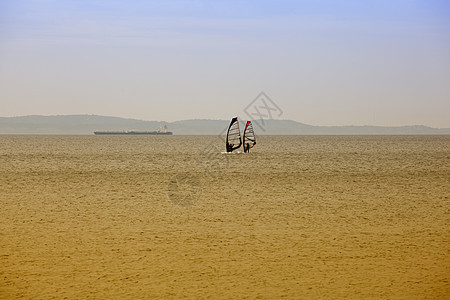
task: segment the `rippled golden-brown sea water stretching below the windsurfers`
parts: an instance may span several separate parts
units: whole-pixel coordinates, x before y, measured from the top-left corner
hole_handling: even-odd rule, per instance
[[[450,292],[449,136],[0,136],[1,298]]]

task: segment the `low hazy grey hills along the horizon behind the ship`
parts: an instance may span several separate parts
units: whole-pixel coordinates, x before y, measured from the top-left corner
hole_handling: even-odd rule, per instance
[[[156,130],[167,125],[176,135],[216,135],[224,133],[228,120],[142,121],[97,115],[0,117],[0,134],[93,134],[96,130]],[[254,120],[257,134],[272,135],[407,135],[450,134],[450,128],[423,125],[312,126],[290,120]],[[243,128],[242,124],[242,128]]]

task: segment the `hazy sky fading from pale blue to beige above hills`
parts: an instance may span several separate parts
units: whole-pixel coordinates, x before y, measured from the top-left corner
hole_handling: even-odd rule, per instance
[[[0,116],[450,127],[450,1],[0,1]]]

